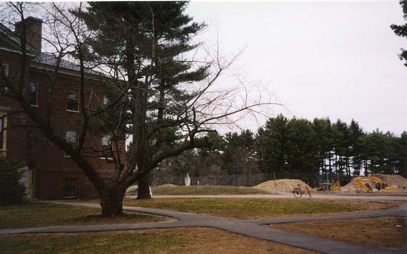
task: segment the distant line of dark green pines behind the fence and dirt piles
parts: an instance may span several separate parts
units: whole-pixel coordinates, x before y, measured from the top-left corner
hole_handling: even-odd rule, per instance
[[[211,148],[169,158],[156,176],[306,173],[309,181],[348,182],[375,173],[407,177],[407,132],[367,133],[352,120],[269,118],[257,133],[211,134]]]

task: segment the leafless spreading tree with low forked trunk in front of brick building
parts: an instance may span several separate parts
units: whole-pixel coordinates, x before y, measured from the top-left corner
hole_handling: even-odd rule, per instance
[[[10,5],[24,20],[23,4]],[[181,5],[179,15],[183,15],[184,5]],[[109,36],[109,33],[102,26],[84,22],[86,15],[95,9],[85,10],[79,5],[69,10],[66,6],[53,3],[47,5],[45,23],[49,25],[51,33],[44,37],[50,45],[48,49],[53,50],[54,54],[36,56],[36,59],[45,58],[38,60],[40,63],[51,65],[52,62],[53,66],[53,70],[48,71],[51,82],[45,114],[27,102],[24,92],[27,89],[24,71],[30,68],[29,63],[33,59],[26,50],[23,37],[20,45],[19,85],[10,82],[2,73],[2,82],[8,88],[6,93],[2,92],[2,96],[17,102],[21,107],[18,112],[10,114],[23,114],[30,119],[18,128],[38,129],[43,137],[70,156],[98,190],[102,215],[109,216],[122,214],[126,189],[158,167],[165,158],[211,146],[208,133],[216,132],[219,126],[237,124],[248,115],[267,115],[271,107],[278,103],[260,86],[247,84],[239,75],[231,72],[240,53],[227,58],[221,56],[217,49],[211,52],[201,44],[196,44],[191,47],[189,54],[178,54],[184,52],[179,50],[180,46],[190,45],[190,40],[202,27],[195,27],[196,31],[188,36],[184,33],[178,37],[168,37],[165,33],[169,31],[166,29],[171,27],[164,26],[160,19],[165,6],[143,3],[142,18],[137,20],[130,19],[134,18],[130,15],[116,15],[121,13],[121,6],[107,4],[103,8],[113,10],[109,17],[100,15],[105,22],[108,18],[115,19],[117,29],[109,32],[111,41],[106,39],[108,37],[97,40],[102,39],[101,34]],[[136,21],[138,23],[134,25]],[[194,25],[189,19],[182,27]],[[160,29],[161,32],[158,31]],[[116,47],[112,47],[112,44]],[[169,57],[163,57],[168,52],[171,52]],[[202,57],[198,59],[197,55]],[[159,82],[163,77],[160,72],[168,66],[174,66],[174,63],[188,66],[185,71],[177,73],[178,77],[205,70],[205,79],[180,79],[180,82],[174,82],[168,88]],[[79,94],[76,103],[80,114],[76,122],[80,131],[75,145],[63,137],[53,124],[55,119],[51,105],[54,90],[59,86],[62,66],[70,66],[78,74]],[[163,87],[167,89],[160,96],[160,88]],[[108,96],[102,97],[104,94]],[[105,147],[89,139],[91,135],[100,133],[111,135]],[[132,142],[126,154],[126,163],[120,149],[124,145],[125,134],[131,134]],[[106,152],[106,162],[114,165],[109,181],[89,162],[89,158],[99,156],[97,154],[103,151]]]

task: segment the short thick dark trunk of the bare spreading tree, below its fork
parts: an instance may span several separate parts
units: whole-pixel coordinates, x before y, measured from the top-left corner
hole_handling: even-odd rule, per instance
[[[102,192],[100,197],[102,217],[123,215],[123,198],[125,193],[126,190],[119,187]]]

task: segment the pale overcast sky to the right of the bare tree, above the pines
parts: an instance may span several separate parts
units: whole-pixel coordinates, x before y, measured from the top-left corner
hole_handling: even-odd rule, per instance
[[[390,28],[405,23],[398,1],[192,1],[187,13],[214,20],[224,49],[246,46],[245,72],[277,93],[286,117],[407,131],[407,67],[397,55],[407,40]]]

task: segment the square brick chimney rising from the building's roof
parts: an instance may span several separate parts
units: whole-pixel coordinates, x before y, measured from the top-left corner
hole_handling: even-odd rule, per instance
[[[15,23],[15,33],[20,38],[22,38],[21,35],[24,32],[24,26],[26,27],[26,42],[41,52],[42,20],[28,17]]]

